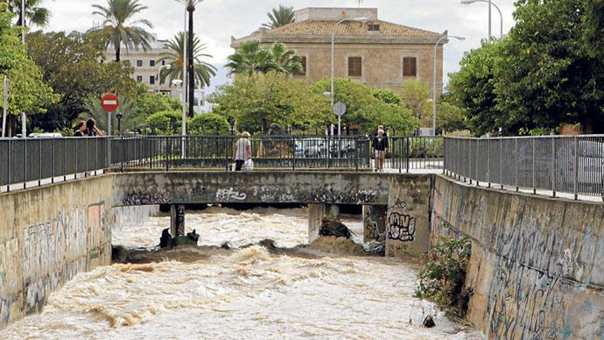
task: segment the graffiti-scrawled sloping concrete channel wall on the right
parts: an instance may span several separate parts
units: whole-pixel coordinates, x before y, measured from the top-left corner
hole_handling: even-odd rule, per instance
[[[437,175],[430,241],[472,238],[469,319],[489,339],[604,338],[604,205]]]

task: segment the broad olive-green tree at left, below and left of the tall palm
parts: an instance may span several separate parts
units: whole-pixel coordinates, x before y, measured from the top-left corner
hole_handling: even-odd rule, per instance
[[[42,70],[46,84],[60,95],[58,102],[45,104],[46,115],[32,119],[34,126],[45,131],[71,127],[80,113],[89,111],[89,100],[98,100],[107,92],[116,93],[121,103],[137,100],[132,67],[99,63],[104,56],[103,39],[97,33],[27,34],[27,53]]]

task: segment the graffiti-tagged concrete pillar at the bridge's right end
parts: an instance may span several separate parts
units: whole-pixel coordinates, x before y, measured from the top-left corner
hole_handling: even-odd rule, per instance
[[[391,177],[386,256],[421,256],[430,249],[430,179]]]

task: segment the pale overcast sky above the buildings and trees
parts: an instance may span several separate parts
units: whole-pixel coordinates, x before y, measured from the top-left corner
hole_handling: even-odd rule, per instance
[[[513,25],[513,0],[495,0],[503,13],[504,34]],[[106,0],[46,0],[51,10],[51,19],[45,30],[71,31],[88,30],[99,16],[93,16],[93,4],[105,5]],[[141,0],[148,6],[143,12],[150,20],[158,38],[171,38],[183,30],[184,6],[175,0]],[[298,10],[306,7],[358,7],[357,0],[205,0],[195,12],[195,33],[207,43],[209,60],[218,67],[219,74],[213,78],[211,92],[216,84],[227,81],[222,65],[233,53],[231,35],[237,38],[255,31],[268,21],[266,12],[271,8],[292,5]],[[487,36],[487,4],[461,5],[458,0],[364,0],[363,7],[378,9],[380,20],[409,25],[412,27],[465,36],[465,41],[451,40],[445,46],[445,75],[458,70],[463,52],[480,45],[480,39]],[[499,34],[499,14],[493,9],[493,34]]]

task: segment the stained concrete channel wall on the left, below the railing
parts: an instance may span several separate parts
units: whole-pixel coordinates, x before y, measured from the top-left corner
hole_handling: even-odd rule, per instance
[[[76,274],[111,263],[112,182],[0,194],[0,328],[41,310]]]

